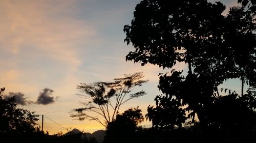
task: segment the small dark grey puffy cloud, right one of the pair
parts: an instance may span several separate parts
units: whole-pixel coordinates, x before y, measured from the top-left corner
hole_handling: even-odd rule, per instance
[[[39,93],[39,96],[37,97],[37,104],[51,104],[54,103],[54,97],[51,97],[50,95],[53,93],[53,90],[45,88],[42,90],[42,92]]]

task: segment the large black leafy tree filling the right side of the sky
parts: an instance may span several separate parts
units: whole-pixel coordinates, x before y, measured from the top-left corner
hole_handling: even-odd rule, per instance
[[[154,127],[181,127],[196,114],[200,123],[212,125],[208,112],[222,100],[218,85],[240,78],[242,96],[245,82],[255,87],[255,2],[238,2],[242,6],[230,8],[227,16],[222,3],[205,0],[145,0],[136,6],[131,25],[124,26],[124,41],[135,48],[126,60],[142,66],[188,66],[187,74],[173,70],[160,76],[158,88],[164,95],[155,98],[156,107],[148,107],[147,114]]]

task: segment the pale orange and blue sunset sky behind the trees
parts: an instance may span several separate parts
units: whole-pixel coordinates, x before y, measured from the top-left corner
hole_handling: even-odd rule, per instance
[[[65,133],[65,128],[94,132],[103,126],[70,117],[69,111],[83,107],[76,86],[143,72],[149,81],[137,90],[143,89],[147,95],[127,102],[121,111],[139,106],[145,115],[147,106],[154,105],[154,98],[161,94],[157,89],[158,73],[169,70],[125,61],[125,55],[133,48],[123,42],[123,26],[131,23],[139,2],[0,1],[0,87],[6,88],[4,95],[18,96],[19,108],[45,115],[62,126],[45,118],[44,130],[50,134]],[[221,2],[227,7],[237,3]],[[186,65],[174,68],[186,70]],[[239,86],[232,82],[231,87]],[[151,123],[145,121],[141,125],[150,127]]]

